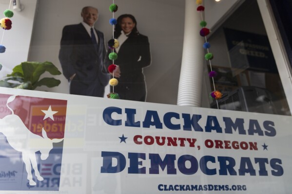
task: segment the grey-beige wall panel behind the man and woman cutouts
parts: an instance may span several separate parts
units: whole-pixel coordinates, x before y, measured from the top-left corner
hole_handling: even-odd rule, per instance
[[[39,0],[31,45],[31,61],[51,61],[60,70],[58,61],[62,28],[82,21],[81,8],[87,5],[99,10],[96,27],[107,40],[112,36],[109,19],[111,0]],[[149,37],[152,65],[144,69],[148,88],[148,102],[176,104],[178,79],[184,32],[184,0],[115,0],[121,14],[136,17],[137,28]],[[57,88],[40,88],[68,93],[68,82],[63,75]]]

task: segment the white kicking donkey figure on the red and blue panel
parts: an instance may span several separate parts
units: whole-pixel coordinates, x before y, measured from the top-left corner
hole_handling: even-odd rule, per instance
[[[44,160],[49,157],[49,152],[53,149],[53,143],[62,141],[63,139],[49,139],[47,133],[42,128],[42,137],[32,133],[21,121],[19,116],[14,114],[14,111],[8,106],[16,96],[10,96],[6,106],[12,111],[11,115],[0,119],[0,132],[6,136],[6,139],[11,147],[22,153],[22,159],[27,172],[29,185],[36,185],[31,173],[31,167],[35,170],[35,175],[39,181],[43,180],[38,170],[36,152],[40,151],[40,159]],[[17,138],[20,137],[20,138]]]

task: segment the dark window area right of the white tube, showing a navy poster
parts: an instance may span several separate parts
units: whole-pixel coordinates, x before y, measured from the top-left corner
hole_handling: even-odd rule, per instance
[[[291,115],[256,0],[241,4],[208,41],[214,85],[223,94],[210,100],[212,108]]]

